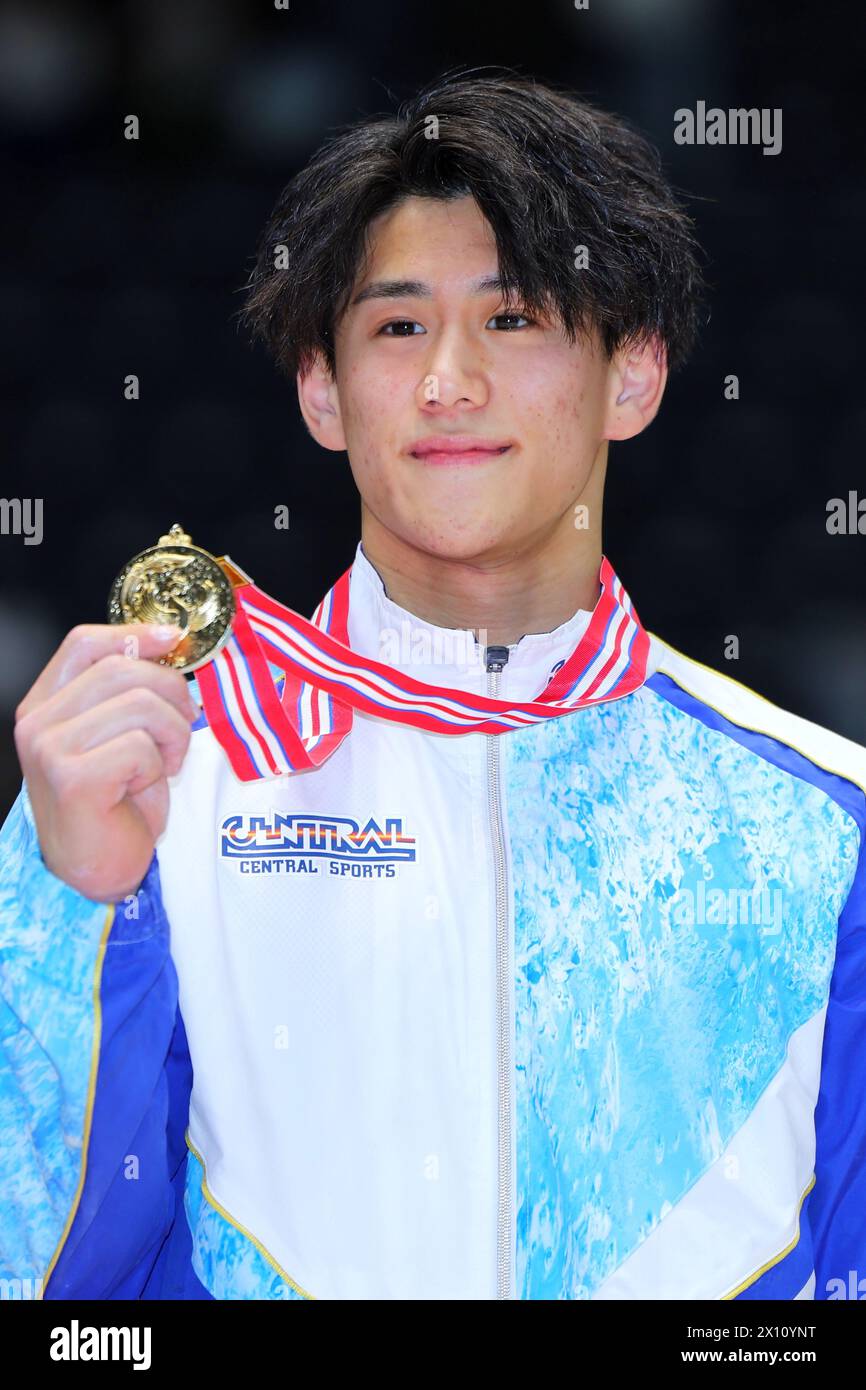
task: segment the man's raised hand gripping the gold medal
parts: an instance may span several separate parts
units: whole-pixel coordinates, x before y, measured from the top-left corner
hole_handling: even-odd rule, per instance
[[[165,828],[167,778],[199,714],[181,671],[153,660],[178,637],[152,623],[79,624],[15,710],[42,858],[95,902],[139,888]]]

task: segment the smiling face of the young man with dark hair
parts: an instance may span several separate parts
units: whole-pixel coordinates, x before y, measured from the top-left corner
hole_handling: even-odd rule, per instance
[[[498,257],[471,197],[409,199],[371,224],[370,247],[335,334],[338,420],[322,438],[348,449],[366,507],[403,543],[470,563],[573,525],[605,457],[612,378],[598,343],[570,345],[552,318],[505,314],[500,291],[477,292]],[[416,452],[457,435],[505,452]]]

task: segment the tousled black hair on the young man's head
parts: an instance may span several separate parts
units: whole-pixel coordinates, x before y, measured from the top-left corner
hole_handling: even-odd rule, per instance
[[[595,327],[610,357],[657,334],[671,371],[687,359],[703,279],[655,147],[557,86],[477,71],[489,72],[446,74],[396,115],[341,128],[279,195],[239,317],[291,379],[317,350],[334,374],[368,225],[411,196],[470,193],[496,239],[506,303],[553,311],[570,342]],[[577,246],[587,268],[574,268]]]

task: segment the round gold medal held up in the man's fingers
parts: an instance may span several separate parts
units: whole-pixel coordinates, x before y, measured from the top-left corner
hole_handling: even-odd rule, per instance
[[[111,585],[110,623],[177,623],[181,639],[161,666],[195,671],[228,641],[235,589],[252,584],[227,555],[192,543],[177,523],[149,550],[133,555]]]

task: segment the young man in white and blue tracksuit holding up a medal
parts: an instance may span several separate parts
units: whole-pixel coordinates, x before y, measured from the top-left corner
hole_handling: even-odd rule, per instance
[[[866,751],[648,634],[602,555],[699,282],[655,153],[524,78],[285,189],[246,320],[360,542],[313,623],[271,612],[293,744],[231,745],[242,663],[199,671],[210,723],[147,627],[138,662],[75,628],[19,706],[4,1275],[851,1295]]]

